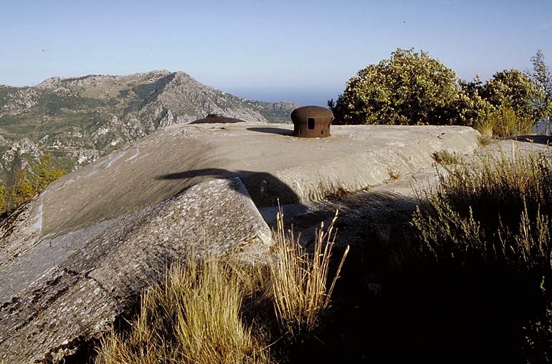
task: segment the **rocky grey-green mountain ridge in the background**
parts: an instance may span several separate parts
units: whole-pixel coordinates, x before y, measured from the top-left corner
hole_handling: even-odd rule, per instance
[[[289,122],[296,107],[231,95],[169,70],[0,85],[0,183],[44,154],[70,171],[157,129],[208,113],[265,124]]]

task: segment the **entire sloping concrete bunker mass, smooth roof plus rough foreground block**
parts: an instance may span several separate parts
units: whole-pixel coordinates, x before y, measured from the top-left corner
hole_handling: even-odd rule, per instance
[[[0,361],[60,360],[99,337],[190,245],[266,257],[258,207],[361,191],[466,154],[466,127],[174,125],[55,181],[0,227]]]

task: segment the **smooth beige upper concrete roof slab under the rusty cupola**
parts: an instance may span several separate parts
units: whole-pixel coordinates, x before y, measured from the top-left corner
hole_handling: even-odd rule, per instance
[[[58,235],[158,203],[208,178],[239,176],[260,206],[360,191],[432,164],[432,152],[466,154],[467,127],[333,127],[327,139],[292,126],[174,125],[55,181],[33,206],[42,235]],[[38,219],[38,218],[37,218]],[[37,220],[38,221],[38,220]]]

